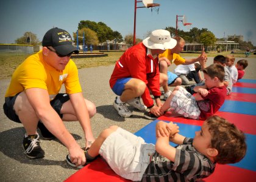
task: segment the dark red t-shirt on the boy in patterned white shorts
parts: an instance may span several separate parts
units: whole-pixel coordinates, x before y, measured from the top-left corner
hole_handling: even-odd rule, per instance
[[[227,95],[226,86],[213,87],[208,90],[207,96],[202,96],[203,100],[197,101],[197,106],[201,110],[199,120],[206,120],[214,115],[225,101]]]

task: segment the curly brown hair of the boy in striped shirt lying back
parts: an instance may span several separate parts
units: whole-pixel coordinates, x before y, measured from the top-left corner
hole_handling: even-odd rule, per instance
[[[246,137],[235,124],[216,115],[207,118],[205,122],[212,135],[211,147],[218,150],[218,155],[214,158],[216,163],[237,163],[244,158],[247,149]]]

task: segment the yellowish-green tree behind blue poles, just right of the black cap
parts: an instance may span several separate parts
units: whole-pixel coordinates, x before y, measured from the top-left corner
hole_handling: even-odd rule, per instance
[[[85,44],[87,44],[87,45],[90,45],[90,44],[98,45],[99,44],[99,39],[98,39],[97,33],[88,28],[83,28],[83,29],[78,30],[79,44],[83,44],[83,32],[85,35]],[[77,36],[76,35],[77,35],[76,32],[73,32],[74,42],[77,44]]]

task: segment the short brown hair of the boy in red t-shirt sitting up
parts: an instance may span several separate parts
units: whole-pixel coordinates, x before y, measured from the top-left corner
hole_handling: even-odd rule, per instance
[[[224,81],[224,76],[225,76],[225,70],[224,67],[221,66],[221,64],[211,64],[210,66],[206,67],[203,70],[204,73],[210,76],[210,78],[215,78],[217,77],[219,81],[223,82]]]

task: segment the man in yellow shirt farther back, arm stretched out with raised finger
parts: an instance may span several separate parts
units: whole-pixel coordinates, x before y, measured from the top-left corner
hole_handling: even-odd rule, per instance
[[[168,49],[164,53],[160,54],[158,56],[159,60],[159,69],[160,69],[160,86],[163,87],[163,90],[165,92],[164,99],[167,99],[169,95],[171,95],[171,90],[168,88],[168,77],[172,79],[171,86],[178,86],[181,84],[181,79],[177,79],[174,73],[168,72],[168,67],[174,63],[176,65],[179,64],[193,64],[194,62],[199,62],[200,64],[202,62],[205,62],[207,60],[207,55],[204,52],[204,49],[202,50],[202,53],[197,58],[192,59],[184,59],[182,58],[179,53],[182,52],[184,46],[185,46],[185,40],[181,38],[180,36],[174,36],[174,39],[177,41],[176,47],[173,49]]]

